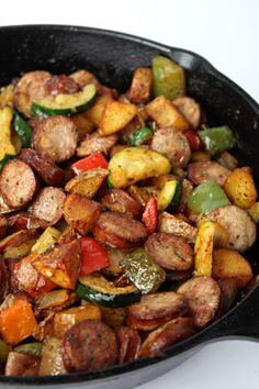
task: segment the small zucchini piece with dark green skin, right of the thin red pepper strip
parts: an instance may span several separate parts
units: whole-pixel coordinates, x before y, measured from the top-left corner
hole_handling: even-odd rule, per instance
[[[158,198],[157,204],[159,211],[173,212],[181,199],[182,182],[176,179],[164,184]]]

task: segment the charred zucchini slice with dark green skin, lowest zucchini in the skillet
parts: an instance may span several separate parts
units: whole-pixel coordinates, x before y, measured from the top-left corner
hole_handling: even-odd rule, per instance
[[[76,293],[80,299],[110,308],[132,304],[139,301],[142,297],[140,290],[134,285],[117,288],[113,282],[97,274],[80,277]]]

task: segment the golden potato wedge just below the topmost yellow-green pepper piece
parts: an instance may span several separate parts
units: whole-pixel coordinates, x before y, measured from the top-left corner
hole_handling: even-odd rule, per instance
[[[160,129],[173,127],[179,131],[184,131],[189,130],[191,126],[171,101],[164,96],[159,96],[149,102],[146,105],[146,111]]]

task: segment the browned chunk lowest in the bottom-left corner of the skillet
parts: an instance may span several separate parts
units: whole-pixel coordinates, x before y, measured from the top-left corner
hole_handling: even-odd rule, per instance
[[[11,352],[8,355],[5,376],[32,377],[38,375],[40,358],[22,353]]]

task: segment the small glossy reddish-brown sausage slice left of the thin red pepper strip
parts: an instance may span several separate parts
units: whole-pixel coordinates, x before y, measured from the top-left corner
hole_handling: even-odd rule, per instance
[[[104,196],[102,203],[110,211],[127,213],[135,219],[142,214],[139,203],[122,189],[112,189]]]

